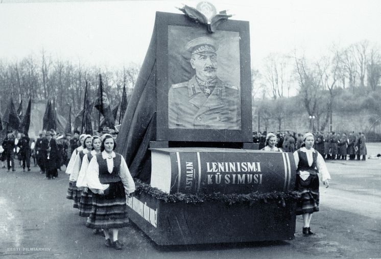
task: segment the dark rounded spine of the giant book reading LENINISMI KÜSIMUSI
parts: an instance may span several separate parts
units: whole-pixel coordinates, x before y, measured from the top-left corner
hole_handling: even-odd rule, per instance
[[[264,193],[295,186],[292,153],[171,152],[170,157],[170,193]]]

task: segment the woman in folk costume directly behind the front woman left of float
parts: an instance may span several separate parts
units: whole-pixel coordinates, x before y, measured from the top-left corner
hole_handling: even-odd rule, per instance
[[[91,213],[92,208],[92,192],[87,188],[86,182],[86,172],[87,167],[89,166],[89,161],[91,161],[92,157],[101,152],[101,138],[99,136],[92,136],[92,148],[90,152],[86,154],[86,156],[82,159],[81,170],[79,171],[78,179],[77,179],[77,188],[82,191],[81,199],[79,203],[79,216],[88,217]]]

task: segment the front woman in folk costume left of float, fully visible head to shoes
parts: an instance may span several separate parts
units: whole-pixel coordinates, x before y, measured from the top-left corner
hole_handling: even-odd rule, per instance
[[[110,134],[102,136],[101,153],[96,154],[87,168],[87,186],[93,192],[93,207],[86,226],[104,229],[105,245],[122,249],[118,229],[127,226],[126,194],[135,191],[126,161],[113,150],[115,140]]]

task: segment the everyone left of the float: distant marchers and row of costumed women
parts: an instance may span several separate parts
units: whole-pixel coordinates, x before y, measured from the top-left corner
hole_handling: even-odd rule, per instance
[[[108,127],[93,136],[78,131],[73,136],[57,135],[50,130],[31,142],[28,135],[9,131],[0,152],[2,161],[7,160],[8,172],[16,170],[15,156],[23,171],[31,170],[33,158],[47,179],[58,177],[58,170],[65,165],[70,175],[66,198],[74,201],[79,216],[87,217],[86,227],[102,234],[107,247],[120,250],[123,244],[118,241],[118,230],[129,222],[126,195],[131,197],[135,184],[123,156],[113,151],[116,134]]]

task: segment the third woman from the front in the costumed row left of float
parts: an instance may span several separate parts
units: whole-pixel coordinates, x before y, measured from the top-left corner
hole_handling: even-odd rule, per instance
[[[70,174],[70,177],[69,177],[69,182],[73,183],[73,200],[74,200],[73,208],[79,209],[79,203],[81,201],[82,192],[81,190],[77,188],[77,179],[78,179],[79,171],[81,170],[83,157],[87,153],[91,152],[91,149],[92,149],[91,135],[85,135],[83,137],[82,150],[78,152],[76,159],[74,160],[72,173]]]

